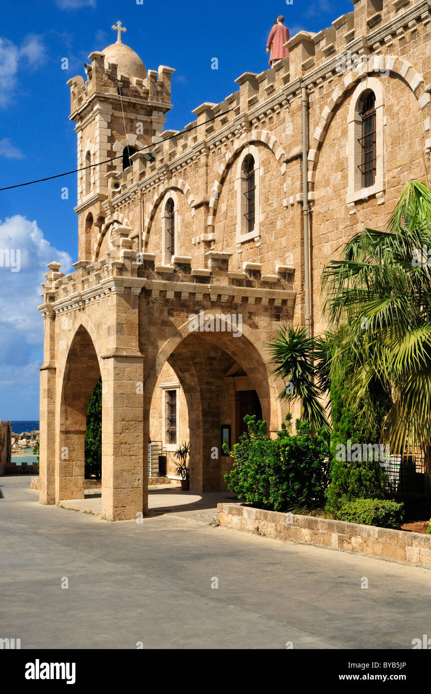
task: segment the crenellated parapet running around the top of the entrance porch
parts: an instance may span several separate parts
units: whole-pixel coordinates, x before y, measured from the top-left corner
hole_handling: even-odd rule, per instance
[[[99,262],[77,262],[75,271],[64,275],[60,264],[51,263],[47,281],[42,287],[44,317],[61,316],[88,305],[105,301],[116,294],[140,294],[153,297],[226,301],[285,306],[293,313],[295,268],[277,264],[273,273],[262,273],[261,263],[244,262],[242,270],[230,270],[231,253],[205,253],[205,267],[192,267],[190,257],[174,256],[170,265],[155,262],[153,253],[136,253],[131,249],[130,229],[117,229],[113,250]]]

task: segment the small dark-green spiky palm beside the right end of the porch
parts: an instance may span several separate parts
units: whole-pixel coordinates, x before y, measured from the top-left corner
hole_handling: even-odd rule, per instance
[[[269,346],[271,361],[276,368],[271,373],[287,380],[288,387],[278,396],[280,400],[301,398],[301,420],[314,430],[330,430],[321,403],[323,393],[329,389],[329,364],[332,345],[328,336],[307,337],[305,328],[285,327]],[[314,383],[314,377],[317,383]]]

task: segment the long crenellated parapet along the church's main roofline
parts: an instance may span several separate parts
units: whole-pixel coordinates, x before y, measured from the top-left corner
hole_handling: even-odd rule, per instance
[[[199,105],[193,111],[196,120],[183,130],[167,130],[160,133],[160,139],[153,138],[151,146],[133,155],[132,170],[112,174],[121,185],[110,192],[113,203],[133,185],[151,189],[160,180],[177,176],[207,151],[238,139],[280,110],[285,111],[288,125],[284,141],[290,142],[289,135],[294,135],[291,149],[295,149],[301,144],[301,124],[297,121],[290,133],[289,112],[299,110],[302,82],[310,94],[323,86],[331,88],[346,76],[349,61],[361,56],[369,56],[371,69],[378,70],[384,56],[389,60],[393,53],[404,55],[409,37],[422,31],[431,19],[430,0],[355,0],[354,4],[353,12],[341,15],[319,33],[301,31],[291,37],[286,44],[289,58],[260,74],[239,76],[237,92],[220,103]],[[154,158],[151,162],[145,157],[149,150]]]

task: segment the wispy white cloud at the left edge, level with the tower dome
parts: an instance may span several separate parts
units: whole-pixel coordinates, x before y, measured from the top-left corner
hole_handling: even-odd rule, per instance
[[[0,107],[10,103],[20,69],[42,64],[45,47],[40,36],[29,34],[21,46],[0,37]],[[24,65],[23,65],[23,61]]]

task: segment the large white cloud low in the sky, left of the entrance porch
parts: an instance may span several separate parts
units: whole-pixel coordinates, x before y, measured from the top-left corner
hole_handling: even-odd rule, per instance
[[[37,223],[21,214],[0,221],[0,251],[0,369],[13,370],[29,364],[42,344],[43,320],[37,306],[42,303],[40,284],[47,264],[56,260],[67,273],[71,257],[51,246]],[[8,255],[13,259],[10,266]],[[19,271],[12,271],[13,266]]]

